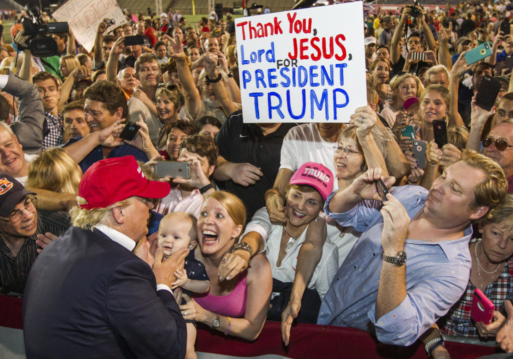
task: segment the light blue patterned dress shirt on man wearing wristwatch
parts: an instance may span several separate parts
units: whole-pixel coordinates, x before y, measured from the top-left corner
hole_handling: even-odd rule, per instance
[[[375,333],[379,341],[407,346],[414,343],[463,294],[470,274],[468,241],[464,237],[439,242],[406,238],[407,295],[402,303],[376,318],[383,247],[381,201],[365,200],[346,213],[324,211],[339,224],[363,232],[337,272],[319,311],[318,324],[352,327]],[[390,193],[413,218],[424,206],[428,191],[420,186],[393,187]]]

